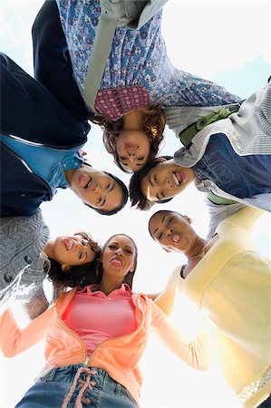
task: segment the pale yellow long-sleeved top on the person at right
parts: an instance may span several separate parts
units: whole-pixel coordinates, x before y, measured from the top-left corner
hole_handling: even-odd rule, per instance
[[[222,221],[215,245],[185,279],[178,267],[156,300],[169,312],[179,285],[198,304],[227,384],[249,408],[271,392],[271,264],[249,238],[261,214],[247,207]]]

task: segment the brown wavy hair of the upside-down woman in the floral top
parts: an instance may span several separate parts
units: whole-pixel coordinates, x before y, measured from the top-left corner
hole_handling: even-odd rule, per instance
[[[150,161],[157,155],[160,142],[164,138],[163,131],[166,125],[166,114],[161,108],[161,104],[149,108],[141,108],[140,114],[142,118],[142,131],[144,131],[150,141],[150,153],[148,157],[148,161]],[[121,166],[115,143],[116,138],[118,138],[120,131],[123,129],[123,118],[118,121],[109,121],[102,116],[90,113],[89,119],[102,127],[102,141],[105,149],[113,155],[116,165],[122,171],[129,173],[130,171],[123,169]],[[155,129],[155,134],[153,133],[153,129]]]

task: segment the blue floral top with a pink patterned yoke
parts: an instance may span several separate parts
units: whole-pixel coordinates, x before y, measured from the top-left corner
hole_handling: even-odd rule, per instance
[[[56,0],[73,63],[83,94],[99,15],[99,0]],[[95,109],[111,120],[140,107],[221,105],[239,98],[216,83],[174,67],[161,36],[162,11],[140,30],[115,30]]]

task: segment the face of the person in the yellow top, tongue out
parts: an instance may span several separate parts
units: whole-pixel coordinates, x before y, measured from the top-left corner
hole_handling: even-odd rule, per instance
[[[197,234],[190,227],[191,220],[174,211],[158,211],[149,223],[150,235],[166,251],[187,253]]]

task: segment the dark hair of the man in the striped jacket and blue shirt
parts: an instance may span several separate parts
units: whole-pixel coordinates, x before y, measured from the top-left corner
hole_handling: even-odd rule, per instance
[[[157,201],[150,201],[150,199],[147,199],[141,191],[142,179],[145,176],[147,176],[147,174],[149,173],[151,169],[153,169],[154,167],[158,166],[158,164],[160,164],[160,160],[158,159],[170,160],[172,159],[172,156],[157,157],[155,160],[152,160],[149,163],[145,164],[145,166],[140,171],[137,171],[131,176],[130,185],[129,185],[131,207],[136,206],[136,209],[146,211],[150,209],[153,206],[153,204],[157,204],[157,203],[163,204],[165,202],[169,202],[172,199],[170,198],[170,199],[160,199]]]

